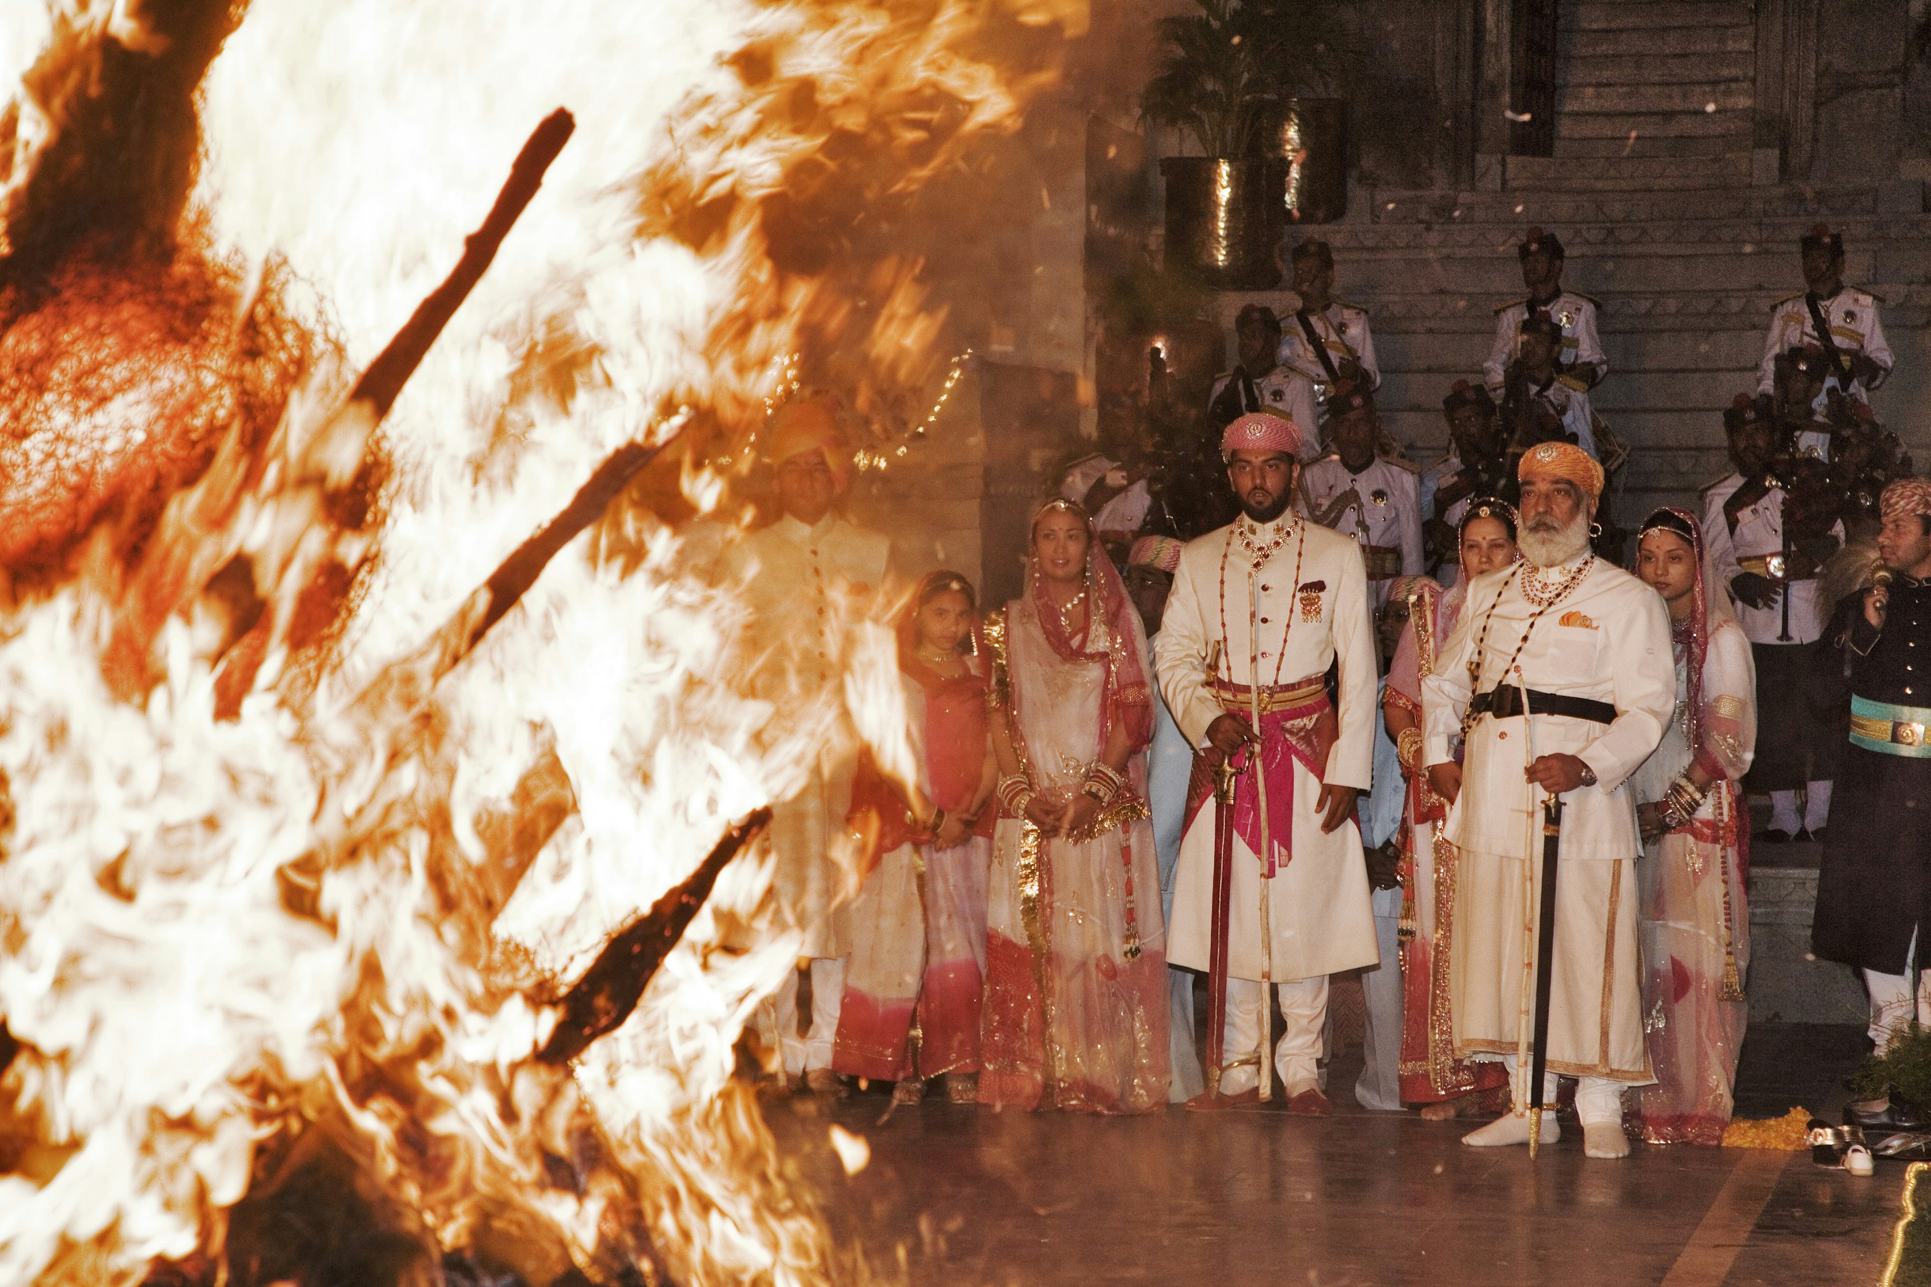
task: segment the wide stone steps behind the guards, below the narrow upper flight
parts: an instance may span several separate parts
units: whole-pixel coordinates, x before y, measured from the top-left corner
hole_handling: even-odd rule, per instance
[[[1663,8],[1630,8],[1651,2]],[[1456,378],[1479,378],[1495,307],[1522,295],[1516,243],[1535,224],[1562,237],[1564,282],[1601,301],[1610,370],[1593,403],[1634,448],[1618,513],[1630,523],[1693,502],[1724,469],[1721,413],[1755,390],[1771,305],[1804,286],[1798,237],[1825,220],[1844,232],[1848,280],[1885,297],[1896,372],[1875,409],[1931,467],[1931,216],[1917,183],[1645,191],[1618,181],[1622,191],[1361,191],[1348,222],[1307,230],[1334,247],[1336,293],[1369,311],[1377,401],[1415,459],[1446,446],[1441,397]],[[1290,291],[1224,295],[1228,336],[1247,299],[1296,307]]]

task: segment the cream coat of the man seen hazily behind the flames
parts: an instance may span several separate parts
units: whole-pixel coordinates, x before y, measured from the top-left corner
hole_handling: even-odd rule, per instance
[[[879,533],[826,515],[815,527],[782,517],[724,552],[718,583],[738,590],[751,612],[747,687],[772,702],[772,733],[826,691],[836,693],[852,627],[879,604],[890,550]],[[855,758],[850,720],[838,720],[803,789],[772,805],[774,891],[805,932],[807,957],[850,949],[846,905],[855,890],[832,847],[846,834]]]

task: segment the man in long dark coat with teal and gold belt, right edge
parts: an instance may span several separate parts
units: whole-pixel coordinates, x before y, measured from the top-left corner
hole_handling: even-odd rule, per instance
[[[1863,971],[1879,1050],[1931,1023],[1914,986],[1931,955],[1931,480],[1892,482],[1881,509],[1883,585],[1836,604],[1819,658],[1821,677],[1848,671],[1850,745],[1811,928],[1819,957]]]

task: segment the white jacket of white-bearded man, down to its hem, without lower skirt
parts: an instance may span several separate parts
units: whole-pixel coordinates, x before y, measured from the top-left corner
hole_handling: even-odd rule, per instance
[[[1554,583],[1580,561],[1551,569],[1547,581]],[[1597,778],[1593,787],[1562,797],[1562,859],[1634,859],[1641,843],[1636,803],[1624,783],[1663,741],[1676,710],[1668,610],[1653,589],[1597,560],[1581,585],[1529,629],[1537,608],[1522,592],[1525,571],[1527,563],[1516,563],[1469,583],[1462,619],[1433,673],[1421,681],[1423,760],[1446,764],[1469,698],[1504,681],[1609,702],[1616,720],[1605,726],[1535,714],[1535,727],[1525,729],[1522,716],[1483,716],[1468,733],[1462,795],[1448,810],[1444,834],[1462,849],[1479,853],[1524,859],[1541,853],[1543,793],[1524,781],[1533,737],[1537,756],[1580,756]],[[1471,685],[1469,660],[1477,656],[1477,643],[1481,656]],[[1522,677],[1508,660],[1518,644]],[[1531,714],[1533,706],[1531,697]]]

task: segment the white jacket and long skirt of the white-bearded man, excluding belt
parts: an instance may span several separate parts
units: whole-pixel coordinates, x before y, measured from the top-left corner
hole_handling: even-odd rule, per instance
[[[1551,569],[1547,581],[1574,567]],[[1597,776],[1593,787],[1562,797],[1549,1065],[1580,1077],[1645,1082],[1636,944],[1641,843],[1626,783],[1657,749],[1676,710],[1668,612],[1647,585],[1597,561],[1537,617],[1537,606],[1522,590],[1524,575],[1525,565],[1518,565],[1469,585],[1462,619],[1421,681],[1423,760],[1450,760],[1469,698],[1497,683],[1616,708],[1607,726],[1535,714],[1533,753],[1580,756]],[[1471,683],[1477,643],[1481,656]],[[1510,668],[1512,656],[1520,677]],[[1448,841],[1462,853],[1450,992],[1456,1050],[1464,1055],[1514,1054],[1531,1013],[1545,797],[1524,780],[1531,758],[1525,724],[1522,716],[1485,716],[1469,729],[1462,793],[1444,822]]]

